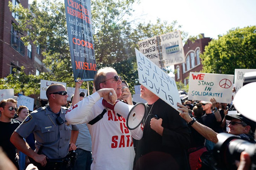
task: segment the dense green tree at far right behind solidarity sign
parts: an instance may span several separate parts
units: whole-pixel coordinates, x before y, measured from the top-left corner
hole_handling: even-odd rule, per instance
[[[203,72],[234,75],[235,69],[256,69],[256,26],[231,29],[204,50]]]

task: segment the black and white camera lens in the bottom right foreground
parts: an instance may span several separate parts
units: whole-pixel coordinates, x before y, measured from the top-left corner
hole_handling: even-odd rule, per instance
[[[216,160],[216,169],[237,169],[242,151],[246,151],[251,158],[251,170],[256,170],[256,145],[239,139],[238,136],[228,133],[217,134],[213,155]]]

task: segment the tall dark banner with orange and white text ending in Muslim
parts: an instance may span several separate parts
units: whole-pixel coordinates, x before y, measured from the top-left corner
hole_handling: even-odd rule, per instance
[[[93,80],[97,70],[90,0],[65,0],[65,9],[74,80]]]

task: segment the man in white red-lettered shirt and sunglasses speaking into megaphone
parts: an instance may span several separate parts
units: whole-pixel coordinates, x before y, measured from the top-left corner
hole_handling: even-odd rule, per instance
[[[66,113],[66,119],[71,124],[88,123],[102,114],[105,107],[102,105],[102,97],[108,102],[114,103],[121,95],[129,100],[132,105],[132,97],[129,92],[122,92],[122,79],[113,68],[102,68],[97,71],[94,78],[96,92],[70,107]],[[112,93],[109,94],[109,93]],[[132,170],[135,157],[133,140],[140,140],[143,132],[140,126],[129,130],[126,126],[126,118],[112,110],[107,109],[102,119],[88,124],[92,136],[91,169]]]

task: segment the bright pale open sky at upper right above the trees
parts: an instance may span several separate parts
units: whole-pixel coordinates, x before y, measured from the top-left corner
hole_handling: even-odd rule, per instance
[[[191,36],[204,33],[218,38],[236,27],[256,25],[256,0],[140,0],[135,13],[145,21],[156,22],[157,17],[171,23],[176,20],[181,30]],[[157,3],[156,3],[157,2]]]

